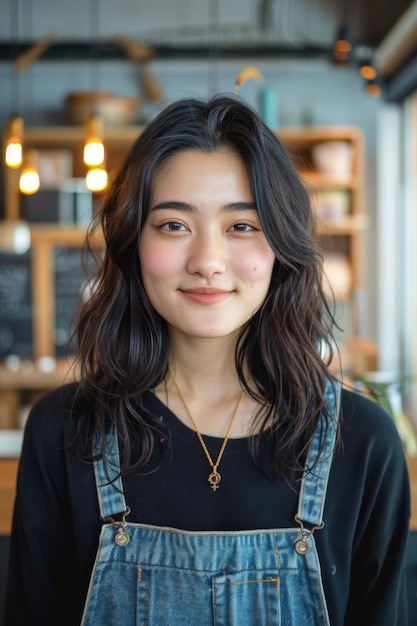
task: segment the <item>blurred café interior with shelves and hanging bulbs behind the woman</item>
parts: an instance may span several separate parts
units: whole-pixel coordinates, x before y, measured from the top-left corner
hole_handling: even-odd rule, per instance
[[[334,369],[388,401],[417,474],[417,2],[1,0],[0,9],[0,532],[27,411],[76,353],[81,247],[106,176],[143,125],[185,96],[238,91],[289,149],[336,296]],[[102,151],[86,163],[94,142]]]

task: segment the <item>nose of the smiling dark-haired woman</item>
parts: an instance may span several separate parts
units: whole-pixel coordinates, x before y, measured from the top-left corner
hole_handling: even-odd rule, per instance
[[[226,242],[221,233],[205,231],[192,242],[187,260],[187,271],[211,278],[223,274],[227,268]]]

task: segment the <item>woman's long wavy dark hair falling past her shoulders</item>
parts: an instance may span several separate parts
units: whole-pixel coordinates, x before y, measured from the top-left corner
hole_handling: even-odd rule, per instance
[[[247,104],[229,96],[180,100],[137,138],[87,237],[92,250],[101,228],[105,250],[76,331],[80,432],[86,450],[91,450],[93,433],[103,437],[105,447],[112,425],[122,450],[122,472],[146,466],[161,428],[146,409],[144,394],[167,374],[168,333],[144,289],[138,254],[155,175],[179,152],[213,153],[223,147],[246,164],[259,219],[276,257],[268,294],[242,329],[235,360],[241,384],[263,407],[254,432],[268,428],[279,433],[274,459],[280,473],[301,469],[319,416],[326,413],[329,374],[321,351],[326,348],[331,358],[333,316],[322,289],[309,195],[280,141]],[[256,440],[250,438],[255,457]]]

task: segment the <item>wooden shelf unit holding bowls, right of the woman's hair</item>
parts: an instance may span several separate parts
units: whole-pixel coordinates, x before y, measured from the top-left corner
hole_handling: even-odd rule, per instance
[[[362,336],[362,328],[367,327],[364,236],[368,226],[362,133],[357,128],[332,126],[283,129],[277,134],[291,153],[317,212],[324,270],[342,328],[336,334],[342,368],[345,373],[376,370],[377,348]],[[336,362],[335,371],[339,371]]]

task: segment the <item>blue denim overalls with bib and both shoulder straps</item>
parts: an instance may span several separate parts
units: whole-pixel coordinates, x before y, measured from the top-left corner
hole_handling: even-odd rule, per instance
[[[319,464],[304,475],[294,528],[190,532],[130,524],[113,438],[107,474],[95,464],[102,527],[82,626],[329,626],[313,532],[323,509],[339,415],[328,381],[330,422]],[[322,443],[324,418],[309,453]],[[126,512],[121,522],[114,521]]]

